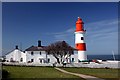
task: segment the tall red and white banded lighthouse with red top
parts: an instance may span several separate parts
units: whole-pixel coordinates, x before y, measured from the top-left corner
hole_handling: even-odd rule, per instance
[[[85,32],[83,27],[84,23],[80,17],[76,21],[75,30],[75,48],[78,50],[78,61],[87,61],[86,44],[85,44]]]

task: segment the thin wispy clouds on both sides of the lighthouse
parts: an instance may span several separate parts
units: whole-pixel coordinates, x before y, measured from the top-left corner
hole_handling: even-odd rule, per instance
[[[85,34],[85,41],[90,44],[91,42],[117,40],[118,36],[118,21],[117,19],[102,20],[92,23],[85,23],[84,28],[87,30]],[[75,26],[63,32],[50,33],[54,41],[65,40],[71,46],[74,46],[74,31]],[[113,38],[112,38],[113,37]],[[99,42],[100,43],[100,42]]]

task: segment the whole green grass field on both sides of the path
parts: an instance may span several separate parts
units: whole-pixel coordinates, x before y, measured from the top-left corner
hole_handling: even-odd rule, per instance
[[[18,67],[18,66],[3,66],[3,69],[8,71],[9,78],[66,78],[64,80],[79,79],[77,76],[65,74],[57,71],[53,67]],[[120,69],[91,69],[91,68],[61,68],[69,72],[87,74],[104,78],[108,80],[119,80],[118,73]],[[80,79],[84,80],[84,79]]]

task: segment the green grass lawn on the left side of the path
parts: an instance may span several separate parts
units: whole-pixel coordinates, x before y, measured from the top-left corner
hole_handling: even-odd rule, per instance
[[[3,69],[10,73],[9,78],[79,78],[59,72],[53,67],[3,66]]]

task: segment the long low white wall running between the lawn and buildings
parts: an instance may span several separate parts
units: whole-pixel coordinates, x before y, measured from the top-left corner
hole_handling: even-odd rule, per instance
[[[5,62],[5,65],[18,65],[18,66],[56,66],[56,67],[63,67],[62,64],[52,64],[52,63],[10,63]],[[102,62],[102,63],[70,63],[66,64],[64,67],[88,67],[88,68],[120,68],[120,62]]]

